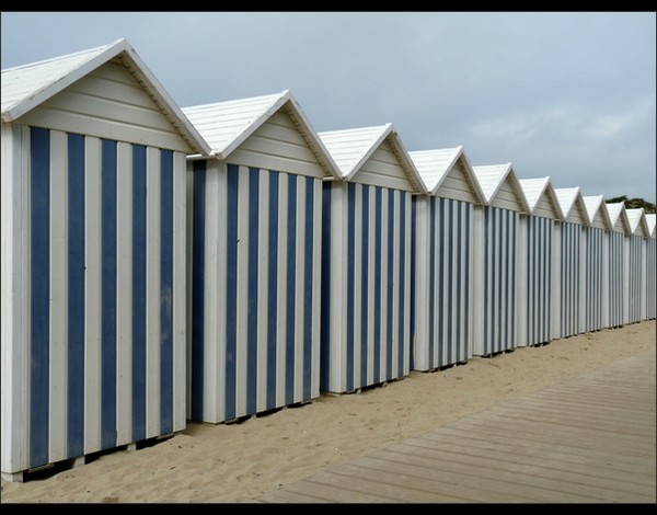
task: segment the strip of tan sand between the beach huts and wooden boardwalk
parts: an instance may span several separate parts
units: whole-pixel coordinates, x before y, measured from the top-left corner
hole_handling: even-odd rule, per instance
[[[655,351],[655,321],[471,359],[361,393],[322,396],[240,424],[197,424],[139,450],[25,483],[2,481],[3,503],[250,502],[506,400]]]

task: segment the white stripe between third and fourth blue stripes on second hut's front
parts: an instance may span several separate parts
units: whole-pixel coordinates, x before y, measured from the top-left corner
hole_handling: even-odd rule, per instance
[[[278,291],[276,304],[278,318],[276,324],[276,405],[285,405],[285,336],[287,331],[287,204],[288,204],[288,175],[278,174]]]

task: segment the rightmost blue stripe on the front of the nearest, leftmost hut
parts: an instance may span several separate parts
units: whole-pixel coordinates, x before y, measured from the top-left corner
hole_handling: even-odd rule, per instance
[[[173,432],[173,152],[160,150],[160,432]],[[176,307],[182,309],[182,306]]]

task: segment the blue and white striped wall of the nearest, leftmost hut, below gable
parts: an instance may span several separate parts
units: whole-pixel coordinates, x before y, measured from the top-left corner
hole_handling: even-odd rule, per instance
[[[185,427],[185,157],[2,126],[2,471]]]

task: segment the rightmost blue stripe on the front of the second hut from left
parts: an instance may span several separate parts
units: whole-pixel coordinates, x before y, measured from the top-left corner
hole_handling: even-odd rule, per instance
[[[306,179],[306,263],[303,264],[303,399],[311,398],[312,386],[312,267],[314,233],[314,184]]]

